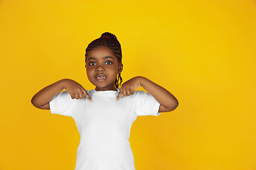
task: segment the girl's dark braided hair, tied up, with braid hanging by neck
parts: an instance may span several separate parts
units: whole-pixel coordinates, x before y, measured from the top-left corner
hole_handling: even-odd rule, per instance
[[[90,42],[90,44],[88,45],[88,47],[85,50],[85,62],[87,60],[87,55],[88,52],[92,49],[94,49],[95,47],[100,47],[100,46],[106,46],[109,47],[113,52],[115,57],[117,57],[117,60],[119,63],[122,63],[122,50],[121,50],[121,45],[119,43],[119,41],[117,40],[117,37],[112,34],[112,33],[102,33],[100,38],[97,38],[96,40],[93,40],[92,42]],[[120,83],[119,83],[120,81]],[[119,86],[122,83],[122,77],[121,77],[121,73],[118,74],[118,77],[115,81],[115,86],[116,88],[119,88]]]

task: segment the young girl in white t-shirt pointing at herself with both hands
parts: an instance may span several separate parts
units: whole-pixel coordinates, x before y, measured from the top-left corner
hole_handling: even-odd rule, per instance
[[[122,51],[111,33],[90,42],[85,67],[95,89],[87,91],[76,81],[62,79],[39,91],[31,103],[75,120],[80,133],[76,170],[134,170],[129,145],[132,123],[138,115],[173,111],[178,101],[145,77],[129,79],[119,89]],[[135,91],[139,86],[149,93]]]

